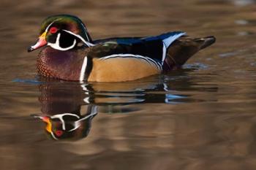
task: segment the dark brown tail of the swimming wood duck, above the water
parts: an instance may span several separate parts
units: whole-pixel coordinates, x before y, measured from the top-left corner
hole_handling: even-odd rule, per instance
[[[215,41],[214,36],[206,36],[197,39],[191,36],[181,36],[181,38],[173,42],[168,48],[167,57],[163,64],[163,71],[168,72],[181,67],[192,55],[214,44]]]

